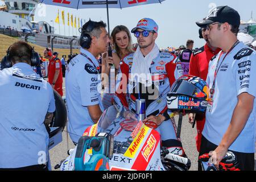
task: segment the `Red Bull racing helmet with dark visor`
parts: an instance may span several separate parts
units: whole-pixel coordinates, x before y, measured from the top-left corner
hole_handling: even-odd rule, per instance
[[[203,79],[184,75],[171,86],[171,92],[167,94],[167,106],[172,112],[204,113],[209,96],[209,88]]]

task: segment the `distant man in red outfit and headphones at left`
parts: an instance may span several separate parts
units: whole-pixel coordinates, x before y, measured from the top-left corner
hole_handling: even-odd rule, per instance
[[[63,77],[60,59],[53,55],[52,50],[50,48],[46,48],[44,50],[44,58],[49,60],[48,82],[52,85],[52,88],[54,88],[57,91],[57,93],[60,94],[60,96],[63,96]]]

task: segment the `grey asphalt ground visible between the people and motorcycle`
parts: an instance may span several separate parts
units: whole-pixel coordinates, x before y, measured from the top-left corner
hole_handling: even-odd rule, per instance
[[[65,82],[65,79],[63,80]],[[65,84],[63,84],[64,87],[64,95],[65,95]],[[175,121],[177,124],[178,117],[175,117]],[[188,123],[188,116],[185,115],[183,117],[183,123],[181,128],[181,140],[183,143],[183,148],[185,150],[185,153],[187,154],[188,158],[191,160],[191,168],[189,171],[197,171],[197,158],[199,153],[196,150],[196,127],[192,129],[192,125]],[[52,148],[50,153],[51,158],[51,165],[52,170],[55,170],[54,167],[56,164],[58,164],[61,160],[66,159],[68,157],[67,151],[71,148],[75,148],[75,145],[73,144],[72,140],[69,138],[69,135],[67,134],[67,129],[65,128],[63,131],[63,142]],[[255,156],[255,164],[256,164],[256,156]],[[255,165],[256,166],[256,165]],[[59,169],[57,169],[59,170]],[[256,167],[254,169],[256,171]]]

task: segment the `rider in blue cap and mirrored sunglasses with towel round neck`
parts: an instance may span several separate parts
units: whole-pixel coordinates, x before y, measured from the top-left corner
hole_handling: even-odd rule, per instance
[[[171,119],[167,114],[166,105],[170,85],[183,75],[180,60],[171,53],[159,51],[155,44],[158,25],[154,20],[140,20],[131,32],[137,38],[139,47],[121,62],[115,101],[135,111],[135,100],[139,98],[135,90],[140,88],[140,98],[146,100],[147,118],[144,122],[154,122],[158,126],[156,130],[161,135],[162,144],[170,147],[170,152],[180,151],[175,154],[184,155],[181,142],[177,140],[174,118]],[[135,75],[138,77],[135,78]],[[142,90],[146,90],[146,93]]]

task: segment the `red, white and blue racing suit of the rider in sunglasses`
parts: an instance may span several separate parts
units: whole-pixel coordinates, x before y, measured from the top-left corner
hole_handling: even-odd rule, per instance
[[[120,63],[114,101],[118,105],[129,107],[129,110],[135,113],[135,101],[138,98],[138,94],[134,92],[136,84],[130,79],[133,56],[134,54],[131,53]],[[177,78],[183,76],[181,62],[178,57],[172,53],[159,52],[159,55],[152,60],[150,73],[152,77],[152,88],[158,92],[158,97],[152,96],[154,99],[152,99],[152,97],[150,98],[148,89],[146,94],[140,94],[140,98],[146,100],[146,117],[151,115],[158,116],[159,114],[166,117],[166,121],[156,129],[161,135],[162,146],[167,147],[170,152],[184,156],[185,153],[180,139],[177,139],[176,135],[177,127],[175,119],[170,118],[170,115],[168,115],[166,103],[166,97],[168,92],[170,92],[171,85]],[[142,86],[141,83],[139,83],[139,85]]]

